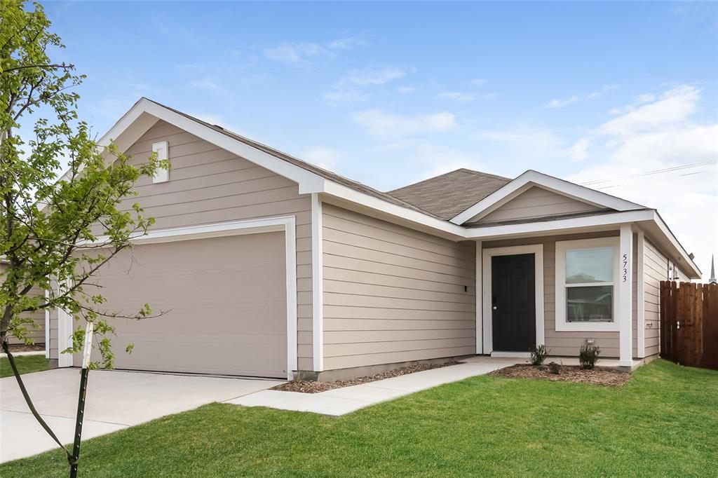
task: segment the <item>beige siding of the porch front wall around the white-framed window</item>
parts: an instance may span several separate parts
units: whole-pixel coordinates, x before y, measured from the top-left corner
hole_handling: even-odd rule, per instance
[[[556,241],[561,240],[577,240],[590,238],[606,238],[618,235],[617,230],[605,231],[600,233],[584,233],[572,235],[552,235],[538,238],[521,238],[509,240],[493,240],[482,242],[482,248],[500,248],[511,245],[529,245],[541,244],[544,246],[544,330],[546,334],[546,348],[551,351],[551,355],[569,355],[576,356],[579,347],[584,344],[585,339],[595,339],[596,345],[601,348],[602,357],[618,357],[619,344],[618,332],[557,332],[556,331]],[[633,247],[633,289],[635,291],[637,282],[638,268],[636,267],[637,259],[635,258],[637,245]],[[615,291],[616,292],[616,291]],[[637,321],[637,302],[636,293],[633,294],[633,355],[636,356],[636,321]]]

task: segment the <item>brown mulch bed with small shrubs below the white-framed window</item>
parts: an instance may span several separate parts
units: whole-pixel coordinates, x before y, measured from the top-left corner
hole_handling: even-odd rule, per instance
[[[577,365],[561,365],[561,373],[551,373],[549,367],[540,365],[512,365],[495,370],[488,375],[508,378],[536,378],[538,380],[554,380],[558,382],[590,383],[592,385],[620,386],[630,380],[630,372],[621,372],[608,367],[596,367],[593,370],[582,370]]]

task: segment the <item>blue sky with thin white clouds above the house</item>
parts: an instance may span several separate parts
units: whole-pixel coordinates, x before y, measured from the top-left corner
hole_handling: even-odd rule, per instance
[[[45,8],[100,134],[144,95],[378,189],[537,169],[657,207],[706,273],[718,253],[717,4]]]

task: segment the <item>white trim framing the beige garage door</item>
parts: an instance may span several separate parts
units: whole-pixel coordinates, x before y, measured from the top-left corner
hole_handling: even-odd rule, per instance
[[[134,244],[168,243],[176,240],[202,238],[218,238],[226,235],[258,234],[284,231],[284,250],[286,253],[286,378],[292,380],[293,371],[297,370],[297,240],[296,219],[294,216],[265,217],[262,219],[218,222],[216,224],[196,225],[183,228],[158,229],[132,240]],[[101,244],[106,237],[98,237],[93,243]],[[58,328],[70,331],[58,334],[60,342],[58,350],[65,350],[72,345],[70,334],[73,319],[70,314],[58,311]],[[73,357],[60,353],[58,366],[70,367]]]

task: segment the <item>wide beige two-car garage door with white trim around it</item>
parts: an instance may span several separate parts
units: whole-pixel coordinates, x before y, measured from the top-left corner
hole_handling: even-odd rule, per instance
[[[272,232],[150,243],[113,258],[98,276],[102,309],[134,314],[147,303],[164,313],[111,319],[116,368],[286,378],[284,248],[284,233]]]

